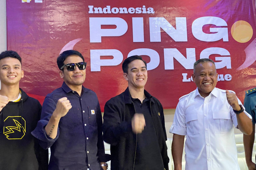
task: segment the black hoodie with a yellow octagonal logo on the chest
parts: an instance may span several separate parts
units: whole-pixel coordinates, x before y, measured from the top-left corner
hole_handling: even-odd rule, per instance
[[[19,102],[9,102],[0,112],[0,169],[47,170],[48,150],[31,135],[42,106],[22,89]]]

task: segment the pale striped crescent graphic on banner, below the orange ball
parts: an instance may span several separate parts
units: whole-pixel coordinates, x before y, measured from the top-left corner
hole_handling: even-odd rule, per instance
[[[247,47],[244,49],[246,59],[244,63],[238,67],[236,70],[242,70],[244,68],[247,68],[248,66],[252,65],[254,61],[256,61],[256,39],[254,39]]]

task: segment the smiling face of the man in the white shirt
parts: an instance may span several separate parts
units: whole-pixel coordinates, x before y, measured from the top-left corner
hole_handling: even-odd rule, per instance
[[[202,97],[208,96],[218,82],[218,73],[212,62],[203,62],[196,65],[193,81],[196,83],[198,91]]]

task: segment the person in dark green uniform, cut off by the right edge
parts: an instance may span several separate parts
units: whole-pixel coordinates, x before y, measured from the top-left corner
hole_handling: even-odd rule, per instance
[[[244,151],[246,164],[249,170],[255,170],[255,163],[252,162],[252,149],[255,137],[255,123],[256,123],[256,87],[245,92],[244,107],[247,113],[252,116],[252,133],[251,135],[244,135]]]

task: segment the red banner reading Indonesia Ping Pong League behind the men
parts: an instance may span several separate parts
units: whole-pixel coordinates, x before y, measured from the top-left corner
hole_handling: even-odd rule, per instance
[[[21,87],[40,96],[61,86],[56,58],[80,51],[88,63],[84,86],[101,108],[123,92],[122,61],[142,55],[146,90],[164,108],[196,88],[193,63],[216,62],[217,87],[244,91],[256,86],[255,0],[7,0],[7,48],[22,57]]]

